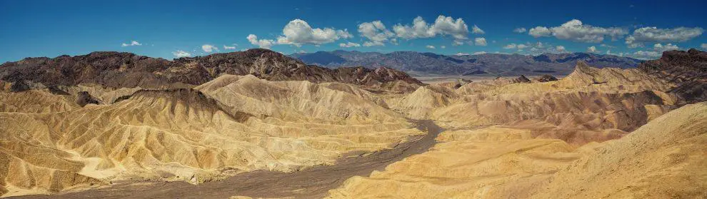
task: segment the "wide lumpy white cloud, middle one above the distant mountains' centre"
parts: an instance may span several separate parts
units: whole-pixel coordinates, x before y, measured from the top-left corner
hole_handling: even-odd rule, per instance
[[[468,39],[468,26],[463,19],[440,15],[434,24],[428,24],[421,16],[413,19],[412,25],[396,24],[393,26],[396,36],[403,39],[430,38],[438,35],[452,36],[457,40]]]

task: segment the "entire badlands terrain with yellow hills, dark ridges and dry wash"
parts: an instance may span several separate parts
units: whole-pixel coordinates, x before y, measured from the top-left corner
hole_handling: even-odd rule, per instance
[[[18,198],[707,198],[707,53],[425,84],[251,49],[0,65]]]

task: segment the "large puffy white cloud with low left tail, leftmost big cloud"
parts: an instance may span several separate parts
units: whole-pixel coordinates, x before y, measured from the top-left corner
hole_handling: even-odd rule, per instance
[[[329,44],[339,39],[353,38],[353,35],[348,30],[338,30],[332,28],[312,28],[307,21],[295,19],[290,21],[282,29],[281,36],[277,40],[273,39],[258,39],[258,36],[250,34],[247,39],[251,44],[260,46],[264,49],[269,49],[275,44],[287,44],[294,46],[302,46],[304,44]]]

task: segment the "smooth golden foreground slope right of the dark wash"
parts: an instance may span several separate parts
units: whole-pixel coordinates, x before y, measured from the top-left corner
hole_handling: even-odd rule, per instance
[[[707,103],[615,141],[575,149],[491,126],[446,131],[433,149],[346,180],[329,198],[703,198]]]

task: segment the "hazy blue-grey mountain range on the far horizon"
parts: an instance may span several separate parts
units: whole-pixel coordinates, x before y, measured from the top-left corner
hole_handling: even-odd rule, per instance
[[[412,51],[392,53],[319,51],[316,53],[294,53],[290,56],[299,58],[304,63],[327,68],[387,66],[416,75],[567,75],[573,71],[577,61],[584,61],[598,68],[607,66],[633,68],[641,63],[641,60],[636,58],[594,53],[544,53],[538,56],[486,53],[446,56]]]

